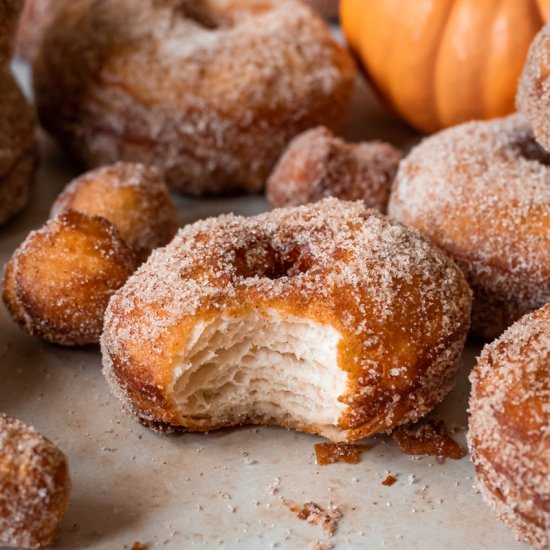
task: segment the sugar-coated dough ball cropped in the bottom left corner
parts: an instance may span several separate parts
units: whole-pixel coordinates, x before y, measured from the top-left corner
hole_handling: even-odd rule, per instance
[[[70,491],[63,452],[34,428],[0,414],[0,546],[50,546]]]

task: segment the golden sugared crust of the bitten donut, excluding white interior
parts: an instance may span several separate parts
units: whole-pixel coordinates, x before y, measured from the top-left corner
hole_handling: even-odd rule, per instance
[[[175,404],[174,362],[193,328],[251,312],[311,320],[342,335],[338,365],[348,384],[338,428],[357,440],[416,420],[447,394],[470,306],[462,272],[444,253],[360,202],[221,216],[180,230],[112,298],[104,373],[148,425],[219,428],[183,418]]]

